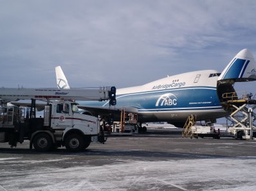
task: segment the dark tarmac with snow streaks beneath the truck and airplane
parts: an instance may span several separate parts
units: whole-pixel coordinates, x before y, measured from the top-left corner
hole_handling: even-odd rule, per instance
[[[28,148],[0,144],[0,190],[256,190],[256,141],[165,130],[109,137],[82,153]]]

